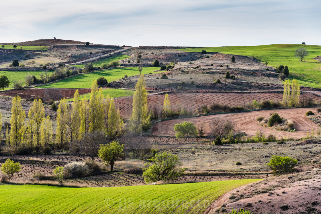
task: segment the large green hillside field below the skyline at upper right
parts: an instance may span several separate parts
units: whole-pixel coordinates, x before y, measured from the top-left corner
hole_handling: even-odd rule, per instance
[[[294,56],[294,51],[304,47],[309,51],[309,55],[300,62]],[[267,62],[269,66],[287,65],[290,70],[290,81],[293,78],[299,80],[303,86],[321,88],[321,62],[314,60],[314,57],[321,55],[319,45],[258,45],[258,46],[231,46],[231,47],[200,47],[183,48],[180,50],[188,52],[221,52],[224,54],[238,54],[255,57],[260,62]],[[236,57],[237,62],[237,57]]]

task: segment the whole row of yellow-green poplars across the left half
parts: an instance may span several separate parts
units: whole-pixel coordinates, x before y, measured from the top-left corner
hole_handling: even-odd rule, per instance
[[[140,133],[150,126],[150,114],[147,107],[147,90],[144,75],[141,74],[135,86],[133,96],[133,112],[128,129]],[[12,148],[27,146],[47,146],[53,140],[53,128],[50,117],[45,118],[45,109],[41,100],[35,99],[26,122],[26,113],[22,109],[21,98],[13,98],[11,109],[11,129],[7,127],[6,142]],[[0,125],[1,125],[0,113]],[[0,126],[1,127],[1,126]],[[89,102],[84,96],[79,99],[78,90],[73,102],[69,105],[66,99],[60,100],[56,116],[56,144],[63,148],[66,142],[79,140],[87,133],[105,131],[109,140],[122,134],[124,122],[115,102],[107,94],[104,97],[102,89],[98,89],[97,81],[91,85]]]

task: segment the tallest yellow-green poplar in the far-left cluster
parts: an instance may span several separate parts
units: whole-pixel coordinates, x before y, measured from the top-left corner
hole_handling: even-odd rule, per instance
[[[11,146],[14,147],[24,147],[24,134],[25,134],[25,118],[26,113],[22,109],[21,98],[20,96],[16,95],[12,99],[12,106],[11,106],[11,131],[10,131],[10,143]]]

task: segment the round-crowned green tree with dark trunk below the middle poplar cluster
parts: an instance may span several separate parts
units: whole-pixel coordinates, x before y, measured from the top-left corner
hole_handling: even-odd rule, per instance
[[[110,165],[110,170],[113,171],[114,164],[117,160],[122,160],[124,145],[119,144],[117,141],[113,141],[108,145],[100,145],[98,156],[105,165]]]

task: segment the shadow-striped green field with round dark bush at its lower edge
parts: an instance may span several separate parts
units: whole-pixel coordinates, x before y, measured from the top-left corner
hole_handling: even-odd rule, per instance
[[[159,67],[146,67],[143,68],[142,73],[148,74],[149,72],[159,69]],[[138,68],[115,68],[110,70],[100,70],[92,73],[76,75],[74,77],[66,78],[48,85],[38,86],[38,88],[90,88],[92,81],[100,78],[101,76],[105,77],[108,82],[112,82],[118,80],[119,78],[123,78],[125,75],[133,76],[138,74]]]

